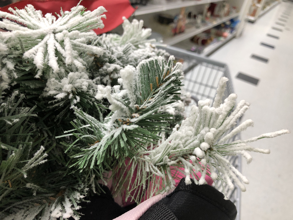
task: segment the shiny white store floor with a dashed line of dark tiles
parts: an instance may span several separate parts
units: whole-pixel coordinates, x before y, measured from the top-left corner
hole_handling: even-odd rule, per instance
[[[293,7],[293,2],[282,2],[255,23],[247,23],[240,38],[210,56],[228,64],[238,101],[251,103],[243,120],[252,119],[254,127],[242,132],[243,139],[280,129],[292,131],[253,144],[269,148],[270,155],[253,153],[249,165],[243,159],[242,173],[250,184],[241,194],[241,220],[293,219],[293,11],[289,7]],[[291,13],[288,19],[284,12]],[[262,46],[261,42],[275,49]],[[252,59],[252,54],[265,57],[268,62]],[[258,84],[236,78],[239,72],[258,78]]]

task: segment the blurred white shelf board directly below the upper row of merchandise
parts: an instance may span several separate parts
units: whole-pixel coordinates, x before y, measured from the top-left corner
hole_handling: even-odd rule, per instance
[[[202,33],[203,31],[206,31],[206,30],[208,30],[210,28],[213,28],[213,27],[215,27],[215,26],[217,26],[219,24],[222,24],[222,23],[224,23],[226,21],[229,21],[230,19],[235,18],[237,16],[239,16],[239,13],[232,14],[232,15],[227,16],[227,17],[222,18],[222,19],[217,19],[214,23],[209,24],[207,26],[203,26],[201,28],[195,28],[195,27],[187,28],[184,33],[175,35],[175,36],[170,37],[170,38],[166,38],[166,39],[163,40],[163,42],[165,44],[168,44],[168,45],[176,44],[176,43],[178,43],[180,41],[183,41],[183,40],[186,40],[188,38],[191,38],[194,35]]]

